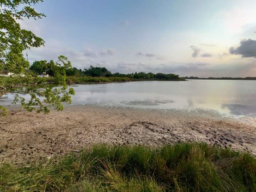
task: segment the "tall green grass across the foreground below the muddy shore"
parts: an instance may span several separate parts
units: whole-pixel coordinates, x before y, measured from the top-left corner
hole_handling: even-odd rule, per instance
[[[256,191],[256,159],[203,143],[96,145],[55,163],[1,164],[0,191]]]

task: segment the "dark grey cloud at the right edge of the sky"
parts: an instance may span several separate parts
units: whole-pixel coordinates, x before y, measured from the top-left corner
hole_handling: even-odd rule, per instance
[[[229,53],[232,55],[241,55],[242,57],[256,58],[256,41],[252,39],[243,39],[238,47],[230,47]]]

